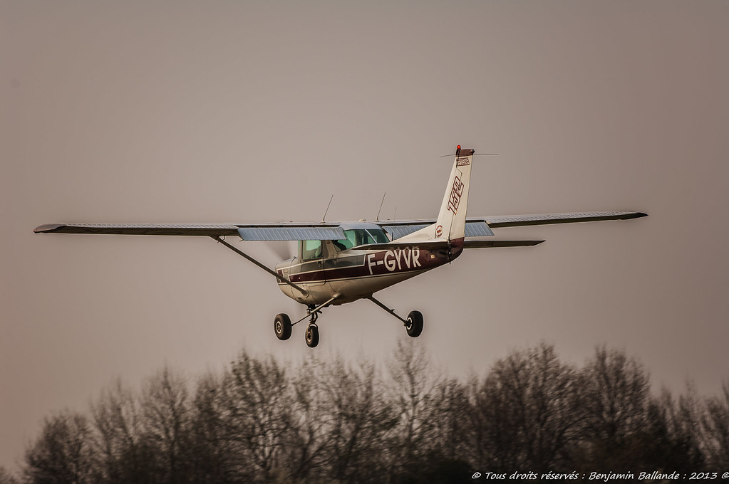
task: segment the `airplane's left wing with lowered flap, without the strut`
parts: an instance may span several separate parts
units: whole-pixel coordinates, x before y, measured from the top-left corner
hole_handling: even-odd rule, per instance
[[[47,223],[36,234],[237,235],[243,240],[338,240],[339,223]]]

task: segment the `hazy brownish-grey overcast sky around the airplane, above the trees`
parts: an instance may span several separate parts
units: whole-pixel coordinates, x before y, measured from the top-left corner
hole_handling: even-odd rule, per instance
[[[394,3],[394,4],[393,4]],[[315,350],[275,280],[200,237],[42,223],[437,215],[456,144],[469,215],[642,210],[501,229],[378,293],[453,376],[555,344],[639,357],[655,389],[729,379],[726,1],[0,1],[0,465],[44,416],[241,349],[382,360],[402,325],[330,308]],[[257,242],[244,245],[273,266]]]

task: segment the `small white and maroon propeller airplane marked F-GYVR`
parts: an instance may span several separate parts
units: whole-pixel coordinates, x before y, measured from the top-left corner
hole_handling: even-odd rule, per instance
[[[292,327],[309,319],[306,344],[319,344],[316,320],[327,306],[369,299],[405,325],[413,338],[423,330],[423,315],[411,311],[402,317],[374,297],[374,293],[410,277],[451,263],[464,249],[526,247],[544,240],[470,239],[491,237],[491,229],[547,223],[628,220],[645,217],[642,212],[583,212],[542,215],[499,215],[466,217],[474,150],[456,148],[451,176],[437,219],[320,223],[52,223],[37,227],[36,233],[194,235],[212,237],[278,279],[278,288],[306,306],[306,314],[295,322],[277,314],[273,329],[280,340],[291,336]],[[326,213],[324,214],[326,216]],[[379,218],[379,215],[378,215]],[[226,236],[242,241],[297,240],[298,253],[270,269],[225,241]],[[469,238],[469,239],[467,239]]]

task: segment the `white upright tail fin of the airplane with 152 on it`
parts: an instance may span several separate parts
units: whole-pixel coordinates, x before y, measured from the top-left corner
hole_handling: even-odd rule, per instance
[[[398,239],[401,242],[416,240],[454,240],[463,239],[466,231],[466,206],[468,186],[471,179],[471,162],[474,150],[456,149],[451,178],[445,186],[443,204],[440,205],[437,222],[424,229]]]

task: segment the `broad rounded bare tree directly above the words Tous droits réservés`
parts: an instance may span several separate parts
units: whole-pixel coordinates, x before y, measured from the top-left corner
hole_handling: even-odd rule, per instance
[[[574,368],[545,343],[513,352],[472,384],[472,440],[478,466],[504,472],[558,468],[584,418]]]

